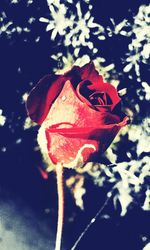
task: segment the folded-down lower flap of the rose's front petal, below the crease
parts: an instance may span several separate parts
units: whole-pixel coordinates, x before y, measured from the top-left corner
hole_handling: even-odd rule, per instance
[[[70,164],[74,162],[77,154],[81,148],[85,145],[92,147],[85,147],[82,151],[81,164],[87,162],[92,155],[99,156],[103,153],[115,136],[119,132],[122,126],[126,125],[126,118],[120,124],[112,124],[102,126],[101,128],[62,128],[46,130],[46,138],[48,141],[48,153],[50,159],[54,164],[62,162]],[[74,167],[72,165],[72,167]]]

